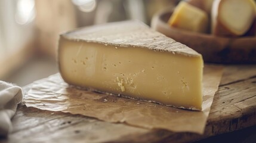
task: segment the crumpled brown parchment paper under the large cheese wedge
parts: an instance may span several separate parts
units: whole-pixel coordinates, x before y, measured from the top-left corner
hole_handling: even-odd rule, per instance
[[[222,67],[204,67],[202,111],[183,110],[85,91],[65,83],[60,74],[34,82],[24,101],[27,107],[41,110],[82,114],[106,122],[124,122],[141,128],[202,134],[222,73]]]

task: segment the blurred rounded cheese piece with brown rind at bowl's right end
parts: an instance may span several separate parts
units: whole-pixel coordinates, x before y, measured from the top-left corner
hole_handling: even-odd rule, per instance
[[[212,4],[212,33],[217,36],[241,36],[255,18],[254,0],[215,0]]]

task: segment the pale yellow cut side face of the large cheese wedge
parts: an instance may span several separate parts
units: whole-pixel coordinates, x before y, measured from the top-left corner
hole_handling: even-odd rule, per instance
[[[202,109],[202,56],[61,37],[58,62],[72,85],[164,105]]]

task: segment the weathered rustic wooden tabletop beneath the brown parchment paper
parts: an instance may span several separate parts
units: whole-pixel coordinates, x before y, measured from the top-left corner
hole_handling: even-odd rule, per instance
[[[28,90],[29,86],[24,87],[25,92]],[[7,138],[0,138],[0,142],[193,142],[248,127],[254,133],[251,138],[255,139],[256,128],[252,126],[256,125],[256,65],[225,66],[203,135],[107,123],[80,115],[27,108],[24,104],[18,105],[12,122],[13,132]],[[211,138],[205,140],[211,141]]]

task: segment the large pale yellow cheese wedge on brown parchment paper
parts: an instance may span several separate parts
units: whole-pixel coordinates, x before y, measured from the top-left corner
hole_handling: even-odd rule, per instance
[[[202,55],[138,21],[60,35],[58,66],[71,85],[179,108],[202,108]]]

